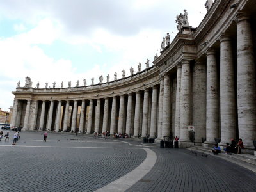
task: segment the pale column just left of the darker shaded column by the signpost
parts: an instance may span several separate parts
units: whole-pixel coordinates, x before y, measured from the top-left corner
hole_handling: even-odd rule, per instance
[[[180,140],[189,141],[188,125],[191,125],[191,71],[190,61],[181,62],[180,92]]]

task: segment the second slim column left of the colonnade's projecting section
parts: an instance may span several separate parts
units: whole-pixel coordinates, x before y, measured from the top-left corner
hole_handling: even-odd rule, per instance
[[[143,100],[143,117],[142,117],[142,134],[141,138],[146,138],[148,133],[148,89],[144,91]]]

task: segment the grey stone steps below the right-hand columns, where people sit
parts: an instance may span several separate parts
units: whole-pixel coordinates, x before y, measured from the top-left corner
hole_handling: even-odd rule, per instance
[[[187,148],[190,150],[190,148]],[[239,164],[240,166],[243,166],[244,168],[248,168],[249,170],[252,170],[256,173],[256,157],[252,154],[225,154],[224,150],[221,150],[221,153],[218,155],[214,155],[212,153],[212,148],[209,147],[202,147],[200,145],[193,145],[192,146],[192,153],[195,153],[197,155],[212,155],[216,157],[220,157],[222,159],[225,159],[227,161],[230,161],[232,163]]]

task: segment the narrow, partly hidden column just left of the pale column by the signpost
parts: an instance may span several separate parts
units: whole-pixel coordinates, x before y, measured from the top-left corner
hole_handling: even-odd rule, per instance
[[[181,92],[181,65],[177,65],[176,106],[175,106],[175,136],[180,138],[180,92]]]

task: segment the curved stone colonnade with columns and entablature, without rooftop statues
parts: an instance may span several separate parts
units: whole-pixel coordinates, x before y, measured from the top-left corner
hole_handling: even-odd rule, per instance
[[[11,124],[178,136],[182,147],[194,125],[195,144],[242,138],[250,148],[256,140],[255,10],[253,0],[214,1],[198,28],[181,29],[152,67],[129,77],[80,87],[18,87]]]

